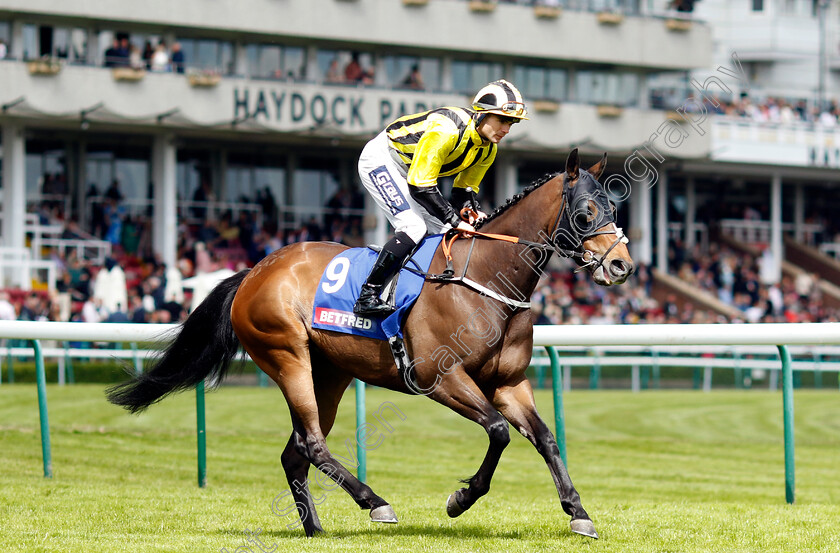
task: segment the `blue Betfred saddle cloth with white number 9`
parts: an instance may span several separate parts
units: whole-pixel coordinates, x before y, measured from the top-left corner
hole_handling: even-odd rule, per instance
[[[426,272],[440,244],[442,234],[435,234],[423,240],[406,267]],[[414,305],[423,289],[425,279],[403,269],[397,281],[394,303],[397,310],[385,318],[360,317],[353,313],[353,304],[359,297],[371,267],[379,254],[370,248],[351,248],[335,256],[329,262],[315,292],[312,306],[312,326],[323,330],[334,330],[377,340],[391,336],[402,338],[402,326],[408,311]]]

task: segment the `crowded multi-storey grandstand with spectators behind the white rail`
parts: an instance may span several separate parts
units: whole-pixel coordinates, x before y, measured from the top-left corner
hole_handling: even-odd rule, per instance
[[[836,2],[147,4],[0,6],[0,288],[22,318],[168,322],[181,278],[298,240],[381,243],[364,143],[504,77],[531,120],[483,201],[606,151],[640,263],[615,290],[556,263],[542,322],[837,320]],[[108,258],[122,315],[90,299]]]

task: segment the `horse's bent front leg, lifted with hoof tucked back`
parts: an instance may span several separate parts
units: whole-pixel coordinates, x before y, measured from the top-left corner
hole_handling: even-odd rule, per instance
[[[493,478],[502,452],[510,443],[510,432],[505,418],[499,414],[473,379],[461,368],[443,378],[429,397],[446,405],[459,415],[480,424],[490,438],[490,445],[478,471],[472,478],[463,480],[468,486],[451,494],[446,502],[446,513],[454,518],[472,507],[479,498],[490,491],[490,480]]]

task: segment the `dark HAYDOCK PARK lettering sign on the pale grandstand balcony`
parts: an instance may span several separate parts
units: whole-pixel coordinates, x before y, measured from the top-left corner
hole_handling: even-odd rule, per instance
[[[435,107],[466,105],[458,95],[317,85],[238,86],[233,89],[233,119],[277,130],[321,127],[345,133],[379,132],[394,119]]]

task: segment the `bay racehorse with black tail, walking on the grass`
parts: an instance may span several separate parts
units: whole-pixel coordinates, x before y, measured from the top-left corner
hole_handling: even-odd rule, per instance
[[[312,328],[319,278],[346,247],[309,242],[279,249],[250,271],[222,281],[183,323],[154,367],[110,388],[108,399],[136,413],[204,379],[217,384],[241,345],[289,405],[293,430],[281,462],[295,501],[306,507],[299,514],[306,535],[312,536],[323,529],[308,489],[300,485],[307,482],[310,465],[370,510],[373,521],[397,522],[388,502],[327,448],[326,436],[351,381],[424,393],[480,424],[489,437],[478,471],[447,500],[450,517],[489,491],[510,441],[510,423],[544,457],[571,529],[597,538],[525,377],[533,316],[527,304],[507,296],[529,299],[553,251],[573,257],[598,284],[621,284],[633,272],[627,239],[598,182],[605,165],[606,154],[588,171],[580,169],[575,149],[565,172],[537,181],[477,226],[488,234],[516,236],[519,243],[474,237],[452,245],[456,273],[466,271],[473,281],[505,293],[493,297],[460,283],[427,282],[405,320],[404,335],[412,359],[432,362],[414,364],[410,379],[400,374],[387,342]],[[440,273],[445,265],[439,248],[429,271]]]

